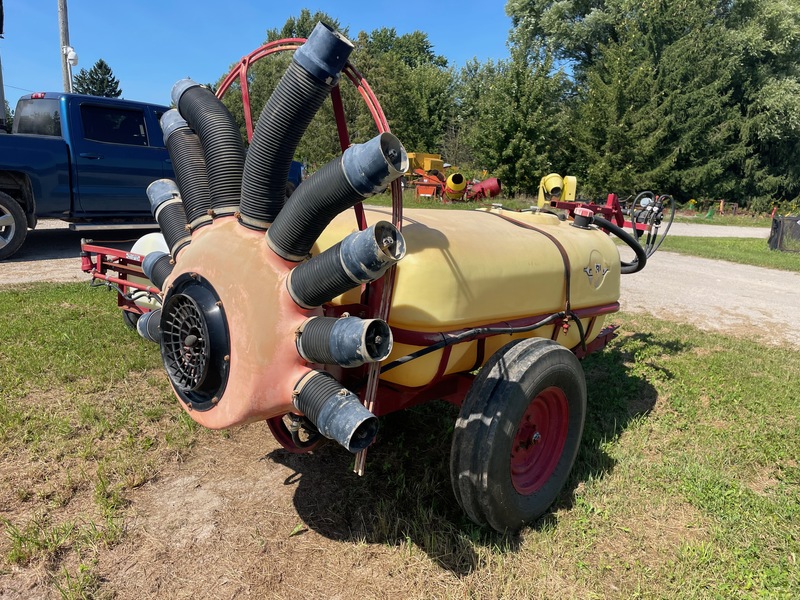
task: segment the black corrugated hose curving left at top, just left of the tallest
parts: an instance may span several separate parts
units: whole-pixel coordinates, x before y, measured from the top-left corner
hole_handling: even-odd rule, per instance
[[[244,144],[236,121],[211,90],[191,79],[173,86],[172,101],[200,138],[214,215],[234,214],[244,170]]]

